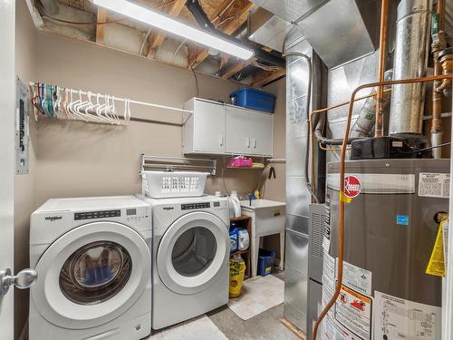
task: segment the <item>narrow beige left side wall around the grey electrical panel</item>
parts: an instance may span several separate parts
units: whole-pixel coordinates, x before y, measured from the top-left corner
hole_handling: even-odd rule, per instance
[[[36,32],[24,0],[16,1],[15,73],[26,84],[34,80]],[[36,196],[36,124],[30,121],[30,173],[14,177],[14,271],[29,267],[30,214]],[[18,338],[28,316],[28,289],[14,289],[14,337]]]

